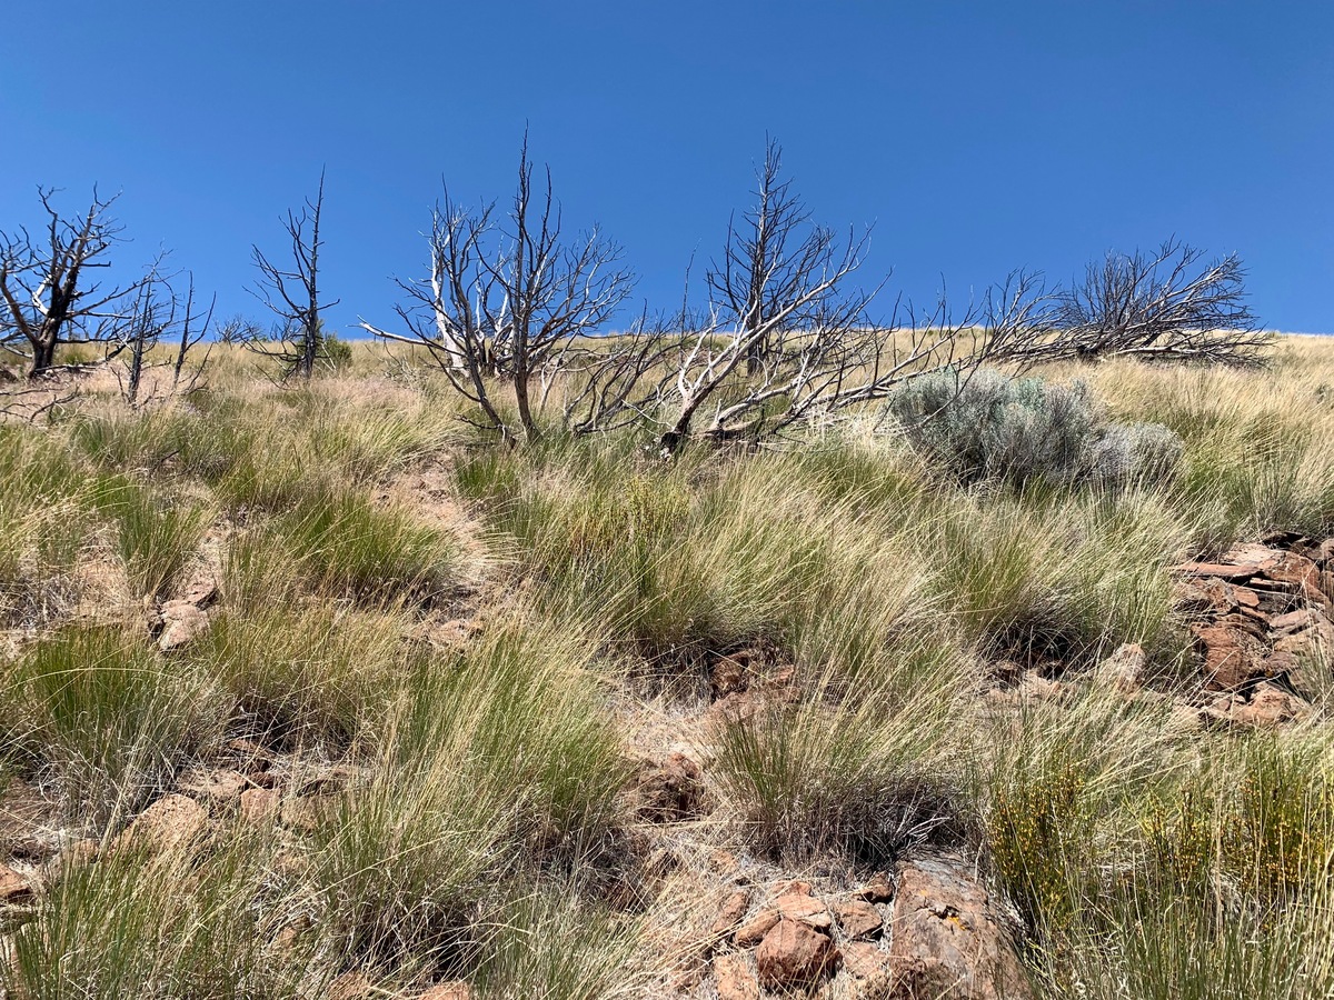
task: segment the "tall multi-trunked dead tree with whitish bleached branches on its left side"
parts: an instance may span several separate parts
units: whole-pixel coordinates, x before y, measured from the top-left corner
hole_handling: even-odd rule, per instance
[[[494,204],[460,207],[446,189],[432,215],[430,276],[399,281],[410,296],[396,309],[406,332],[362,323],[378,337],[424,345],[482,411],[479,425],[511,441],[540,435],[546,380],[604,328],[634,287],[620,247],[596,227],[564,236],[550,168],[536,188],[532,173],[524,136],[504,220]],[[512,396],[512,421],[494,397],[496,383]]]

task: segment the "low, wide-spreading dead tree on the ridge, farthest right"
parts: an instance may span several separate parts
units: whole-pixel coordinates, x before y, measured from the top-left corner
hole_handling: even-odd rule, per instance
[[[1154,253],[1107,253],[1055,293],[1049,336],[1030,341],[1019,360],[1259,364],[1271,336],[1258,329],[1245,277],[1235,253],[1206,261],[1205,251],[1175,239]]]

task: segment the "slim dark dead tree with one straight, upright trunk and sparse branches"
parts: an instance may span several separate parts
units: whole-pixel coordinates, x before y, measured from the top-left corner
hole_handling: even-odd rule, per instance
[[[323,352],[323,324],[320,312],[332,305],[321,303],[319,292],[320,215],[324,209],[324,173],[320,172],[320,185],[315,200],[305,200],[300,212],[288,209],[283,228],[291,240],[292,264],[279,267],[259,247],[251,247],[251,256],[259,269],[259,287],[252,293],[264,303],[280,321],[279,333],[273,339],[255,337],[247,340],[251,351],[276,359],[283,365],[283,377],[292,375],[309,380],[315,373],[315,361]]]

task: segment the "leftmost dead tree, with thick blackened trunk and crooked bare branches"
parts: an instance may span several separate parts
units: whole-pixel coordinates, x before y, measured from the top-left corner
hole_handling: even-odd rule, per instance
[[[93,188],[88,211],[61,216],[52,205],[53,188],[37,188],[48,216],[44,236],[27,229],[0,233],[0,331],[5,351],[23,359],[28,377],[56,367],[63,344],[105,344],[124,333],[128,304],[141,280],[104,288],[91,272],[111,267],[123,227],[109,215],[116,196],[101,199]]]

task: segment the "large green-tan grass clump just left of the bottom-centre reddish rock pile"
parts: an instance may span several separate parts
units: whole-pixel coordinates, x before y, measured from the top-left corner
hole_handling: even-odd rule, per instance
[[[399,977],[468,972],[508,885],[596,857],[626,769],[587,657],[572,633],[508,623],[407,676],[378,777],[316,836],[342,947]]]

